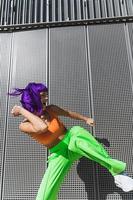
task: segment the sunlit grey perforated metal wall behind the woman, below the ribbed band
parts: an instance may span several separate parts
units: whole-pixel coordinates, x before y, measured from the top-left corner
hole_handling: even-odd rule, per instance
[[[51,28],[0,34],[1,199],[34,200],[47,167],[47,150],[18,130],[22,118],[10,110],[19,98],[12,87],[46,82],[49,103],[91,116],[96,126],[60,117],[67,127],[81,125],[113,158],[132,172],[133,24]],[[59,192],[60,200],[131,200],[100,165],[75,162]]]

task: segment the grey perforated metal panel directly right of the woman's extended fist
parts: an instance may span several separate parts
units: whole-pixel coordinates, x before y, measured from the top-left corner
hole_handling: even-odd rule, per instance
[[[110,147],[106,149],[113,158],[127,163],[127,171],[132,176],[133,94],[124,25],[91,26],[88,27],[88,34],[94,116],[97,122],[95,134],[110,142]],[[110,174],[100,166],[97,172],[99,199],[124,199],[124,194],[114,186]],[[126,198],[132,197],[129,194]]]

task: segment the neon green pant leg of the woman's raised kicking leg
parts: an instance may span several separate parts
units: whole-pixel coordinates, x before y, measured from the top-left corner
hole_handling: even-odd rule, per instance
[[[87,131],[80,126],[74,126],[70,129],[71,139],[68,149],[85,156],[109,170],[115,176],[123,172],[126,163],[112,159],[104,147]]]

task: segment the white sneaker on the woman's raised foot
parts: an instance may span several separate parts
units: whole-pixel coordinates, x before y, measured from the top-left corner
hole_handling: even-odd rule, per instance
[[[117,187],[121,188],[124,192],[133,191],[133,179],[125,175],[115,175],[114,181]]]

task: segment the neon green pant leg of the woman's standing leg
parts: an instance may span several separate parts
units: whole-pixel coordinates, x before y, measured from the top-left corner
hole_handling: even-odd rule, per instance
[[[53,153],[43,176],[36,200],[56,200],[61,183],[69,171],[72,162],[62,155]]]

